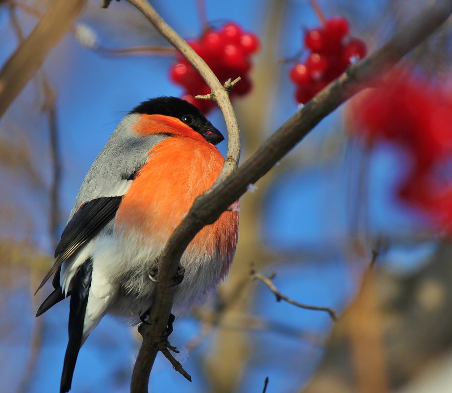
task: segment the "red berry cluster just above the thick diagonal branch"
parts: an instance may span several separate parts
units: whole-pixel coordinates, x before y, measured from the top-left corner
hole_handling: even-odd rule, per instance
[[[304,45],[309,54],[290,70],[290,79],[297,86],[297,102],[306,104],[353,61],[366,55],[364,42],[348,34],[349,23],[342,17],[327,19],[323,27],[305,32]]]

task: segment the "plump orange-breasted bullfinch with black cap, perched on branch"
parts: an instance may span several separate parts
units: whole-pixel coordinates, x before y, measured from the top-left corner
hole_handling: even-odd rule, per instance
[[[156,283],[150,275],[195,199],[219,176],[224,140],[195,106],[176,97],[134,107],[88,171],[55,249],[53,291],[36,316],[70,297],[69,340],[60,393],[71,389],[80,350],[105,314],[144,321]],[[172,313],[189,312],[225,279],[238,237],[238,201],[188,245]]]

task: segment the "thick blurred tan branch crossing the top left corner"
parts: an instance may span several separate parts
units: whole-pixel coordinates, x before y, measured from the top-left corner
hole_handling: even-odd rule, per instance
[[[33,31],[0,71],[0,118],[71,28],[86,0],[54,0]]]

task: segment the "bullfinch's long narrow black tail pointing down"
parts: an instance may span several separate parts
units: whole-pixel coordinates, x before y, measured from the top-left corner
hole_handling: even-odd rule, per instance
[[[64,355],[63,372],[61,374],[60,393],[71,390],[75,362],[83,341],[83,323],[85,320],[88,295],[91,287],[93,260],[87,259],[75,273],[69,306],[69,341]]]

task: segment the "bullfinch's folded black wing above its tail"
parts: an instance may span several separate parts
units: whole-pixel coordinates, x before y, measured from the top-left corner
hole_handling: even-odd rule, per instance
[[[66,225],[61,240],[56,246],[56,261],[36,292],[43,287],[64,261],[73,256],[83,244],[96,236],[115,217],[121,200],[122,196],[101,197],[81,205]]]

